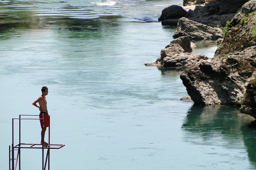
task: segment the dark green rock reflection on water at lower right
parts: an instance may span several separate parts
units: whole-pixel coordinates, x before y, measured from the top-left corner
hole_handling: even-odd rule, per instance
[[[239,149],[242,143],[250,163],[256,168],[256,121],[240,113],[239,106],[193,105],[182,129],[186,132],[184,140],[195,145]]]

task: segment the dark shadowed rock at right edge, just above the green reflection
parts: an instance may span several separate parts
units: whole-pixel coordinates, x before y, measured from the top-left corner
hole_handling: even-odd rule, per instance
[[[252,80],[247,85],[240,111],[256,119],[256,79]]]

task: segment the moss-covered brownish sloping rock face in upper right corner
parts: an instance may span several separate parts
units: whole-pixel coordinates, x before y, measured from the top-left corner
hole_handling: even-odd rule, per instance
[[[225,27],[224,41],[216,51],[214,60],[221,60],[236,51],[256,45],[256,2],[246,3]]]

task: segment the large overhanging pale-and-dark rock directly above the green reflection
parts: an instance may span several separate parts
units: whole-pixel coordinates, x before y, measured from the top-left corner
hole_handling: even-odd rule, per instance
[[[240,105],[246,85],[256,76],[256,46],[223,61],[204,61],[180,78],[196,104]]]

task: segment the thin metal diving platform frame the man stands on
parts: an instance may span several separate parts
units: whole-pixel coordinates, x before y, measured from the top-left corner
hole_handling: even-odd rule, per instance
[[[48,170],[50,170],[50,149],[60,149],[65,145],[62,144],[50,144],[50,116],[49,116],[49,128],[48,128],[48,143],[49,145],[41,145],[38,143],[21,143],[20,136],[21,136],[21,120],[40,120],[40,118],[21,118],[21,116],[38,116],[38,115],[19,115],[19,118],[12,118],[12,148],[9,146],[9,170],[16,170],[17,165],[19,163],[19,170],[20,170],[20,150],[21,149],[42,149],[42,170],[46,170],[46,164],[48,161]],[[14,145],[14,120],[19,120],[19,143]],[[44,117],[42,118],[44,120]],[[28,146],[30,145],[30,146]],[[39,146],[41,147],[39,147]],[[44,162],[44,149],[47,149],[46,159]],[[18,150],[16,158],[14,158],[14,152]],[[16,160],[14,162],[14,160]],[[12,162],[12,164],[11,164]],[[12,167],[12,168],[11,168]]]

